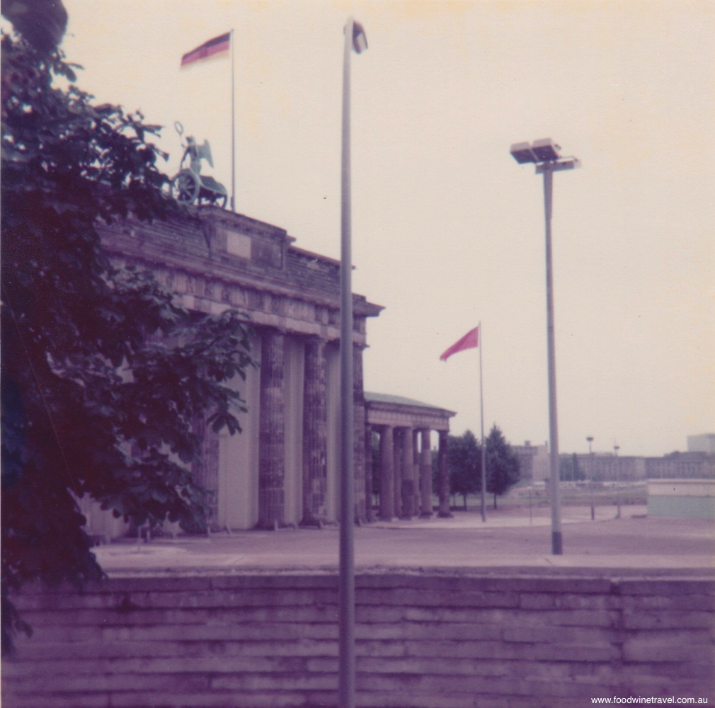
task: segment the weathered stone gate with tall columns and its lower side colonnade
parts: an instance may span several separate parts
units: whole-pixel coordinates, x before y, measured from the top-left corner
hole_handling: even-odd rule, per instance
[[[302,250],[285,230],[244,215],[201,207],[195,216],[127,221],[101,232],[114,265],[151,270],[190,310],[235,308],[252,325],[251,354],[260,365],[238,385],[248,406],[240,416],[242,433],[214,433],[197,422],[204,444],[194,476],[215,491],[209,524],[277,528],[337,521],[340,263]],[[383,491],[380,515],[432,511],[431,458],[429,500],[426,486],[430,431],[438,431],[444,453],[453,415],[406,400],[365,400],[367,323],[382,309],[353,295],[356,521],[373,518],[373,431],[380,433],[383,451],[375,470]],[[445,461],[443,467],[446,480]],[[117,535],[116,527],[102,528],[110,522],[92,505],[82,506],[90,533]]]

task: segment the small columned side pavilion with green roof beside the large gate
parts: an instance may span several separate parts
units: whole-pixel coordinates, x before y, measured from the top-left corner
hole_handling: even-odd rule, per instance
[[[367,411],[366,438],[380,437],[380,518],[432,516],[432,449],[430,433],[439,436],[439,509],[440,516],[451,516],[447,440],[451,410],[437,408],[418,400],[381,393],[365,393]],[[366,446],[370,449],[370,443]],[[368,495],[372,480],[366,478]],[[368,496],[370,498],[370,496]],[[372,511],[371,509],[369,511]]]

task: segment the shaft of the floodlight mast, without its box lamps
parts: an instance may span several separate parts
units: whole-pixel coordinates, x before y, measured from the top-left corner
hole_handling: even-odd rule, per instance
[[[558,416],[556,414],[556,342],[553,324],[553,268],[551,265],[551,202],[553,165],[543,165],[543,207],[546,220],[546,331],[548,347],[548,426],[551,457],[551,553],[563,553],[561,498],[558,489]]]

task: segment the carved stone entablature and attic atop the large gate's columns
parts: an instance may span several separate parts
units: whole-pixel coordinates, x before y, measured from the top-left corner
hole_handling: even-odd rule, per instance
[[[112,262],[151,270],[184,305],[205,312],[242,310],[260,326],[339,338],[340,264],[294,246],[285,230],[221,212],[151,225],[102,228]],[[355,343],[365,345],[365,318],[382,308],[355,296]]]

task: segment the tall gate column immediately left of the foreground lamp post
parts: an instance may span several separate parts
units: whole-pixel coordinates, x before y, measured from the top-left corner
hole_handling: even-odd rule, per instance
[[[303,376],[303,518],[301,526],[320,528],[326,518],[327,405],[325,342],[305,345]]]

